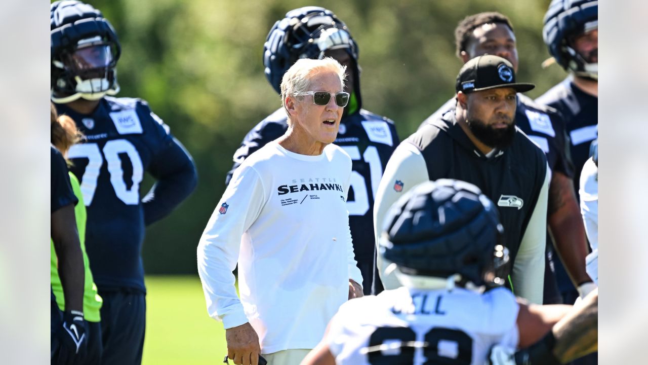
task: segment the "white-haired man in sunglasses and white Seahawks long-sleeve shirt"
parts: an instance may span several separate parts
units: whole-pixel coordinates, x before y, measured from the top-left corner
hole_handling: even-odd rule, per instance
[[[299,364],[340,305],[362,296],[345,204],[351,158],[332,144],[349,102],[344,75],[332,58],[286,71],[288,131],[237,169],[200,239],[207,311],[235,364],[256,365],[259,353]]]

